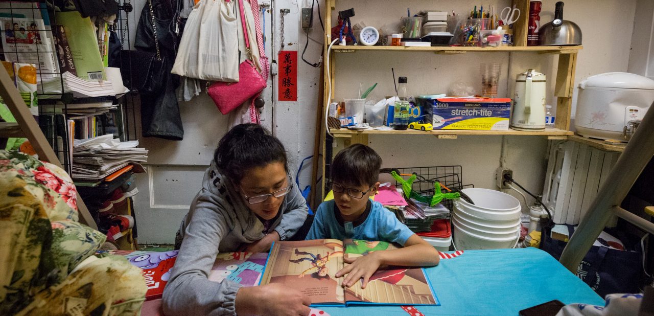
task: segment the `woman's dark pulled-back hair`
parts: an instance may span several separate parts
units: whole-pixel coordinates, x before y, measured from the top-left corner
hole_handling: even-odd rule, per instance
[[[234,184],[241,183],[248,169],[272,162],[281,162],[288,172],[284,145],[258,124],[234,126],[218,142],[214,160],[220,171]]]

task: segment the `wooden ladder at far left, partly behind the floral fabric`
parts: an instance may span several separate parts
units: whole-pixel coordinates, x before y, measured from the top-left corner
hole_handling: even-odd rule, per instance
[[[52,147],[50,147],[50,144],[45,138],[45,135],[43,135],[41,128],[39,128],[39,124],[37,124],[32,114],[29,112],[29,109],[27,109],[25,101],[23,101],[20,92],[18,92],[18,88],[14,86],[14,82],[11,80],[11,77],[9,77],[5,68],[0,68],[2,68],[2,70],[0,70],[0,96],[5,101],[5,104],[7,104],[7,108],[9,108],[9,111],[14,115],[17,122],[0,122],[0,138],[27,138],[34,150],[39,154],[39,159],[50,162],[50,164],[62,167],[63,169],[59,158],[54,150],[52,150]],[[69,139],[69,141],[73,141],[73,139]],[[97,230],[97,224],[95,224],[95,220],[91,216],[91,213],[89,213],[86,204],[84,204],[84,201],[82,201],[79,194],[77,195],[77,209],[81,215],[80,222]]]

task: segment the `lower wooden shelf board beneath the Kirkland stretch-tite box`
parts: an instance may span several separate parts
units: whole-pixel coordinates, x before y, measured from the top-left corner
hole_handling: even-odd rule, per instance
[[[391,135],[434,135],[434,136],[455,136],[456,135],[531,135],[531,136],[547,136],[551,139],[565,139],[569,135],[574,135],[574,133],[566,130],[560,130],[558,128],[547,128],[543,132],[524,132],[519,130],[505,130],[505,131],[479,131],[479,130],[432,130],[429,132],[422,132],[419,130],[364,130],[364,131],[355,131],[348,130],[347,128],[341,128],[339,130],[330,130],[330,133],[334,137],[351,137],[352,135],[381,135],[381,134],[391,134]],[[455,137],[443,137],[443,138],[455,138]]]

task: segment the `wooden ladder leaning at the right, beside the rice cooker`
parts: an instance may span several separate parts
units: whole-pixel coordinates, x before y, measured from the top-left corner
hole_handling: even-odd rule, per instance
[[[559,261],[572,273],[577,271],[579,262],[591,249],[595,239],[600,236],[612,215],[627,220],[645,232],[654,234],[653,222],[620,207],[622,200],[625,199],[636,179],[638,179],[638,176],[653,156],[654,104],[649,107],[649,111],[647,111],[638,126],[638,130],[627,143],[625,151],[611,169],[606,181],[600,186],[595,200],[591,203],[583,219],[579,222],[579,227],[570,237],[565,249],[563,249]],[[651,214],[652,211],[654,210],[651,207],[645,208],[645,212],[648,214]]]

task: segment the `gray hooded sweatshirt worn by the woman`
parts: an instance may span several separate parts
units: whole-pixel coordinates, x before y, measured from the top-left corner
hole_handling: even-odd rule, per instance
[[[290,177],[288,181],[292,183]],[[178,239],[184,242],[163,290],[166,315],[235,315],[234,302],[241,285],[228,279],[220,283],[208,279],[216,255],[237,251],[273,230],[282,240],[292,237],[307,218],[306,201],[294,185],[284,196],[281,216],[264,232],[264,224],[234,188],[212,162],[178,232]]]

